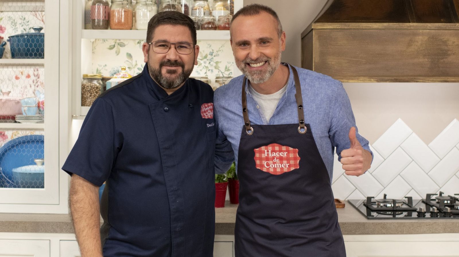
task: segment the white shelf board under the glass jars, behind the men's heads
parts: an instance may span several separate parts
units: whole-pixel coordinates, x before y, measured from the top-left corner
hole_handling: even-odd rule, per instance
[[[146,30],[96,30],[83,29],[84,39],[142,39],[146,38]],[[198,30],[198,40],[229,40],[229,30]]]

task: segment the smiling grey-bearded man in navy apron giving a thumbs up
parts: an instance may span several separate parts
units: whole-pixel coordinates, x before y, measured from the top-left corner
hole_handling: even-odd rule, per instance
[[[217,143],[231,143],[226,164],[236,161],[240,182],[235,256],[345,257],[330,185],[334,149],[347,175],[362,175],[372,160],[346,91],[280,62],[285,32],[268,6],[235,13],[230,35],[244,75],[218,88],[214,103]]]

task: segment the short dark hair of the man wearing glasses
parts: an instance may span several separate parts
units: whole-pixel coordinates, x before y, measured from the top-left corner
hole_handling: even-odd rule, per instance
[[[151,40],[153,40],[155,29],[161,25],[181,25],[188,27],[191,32],[193,44],[196,45],[195,22],[187,15],[178,11],[162,11],[151,17],[150,21],[148,21],[148,28],[146,30],[146,43],[150,43]]]

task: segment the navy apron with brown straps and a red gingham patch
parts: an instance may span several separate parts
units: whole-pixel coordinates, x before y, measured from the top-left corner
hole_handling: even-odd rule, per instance
[[[295,80],[298,123],[251,125],[242,84],[236,257],[345,257],[330,177],[304,123]]]

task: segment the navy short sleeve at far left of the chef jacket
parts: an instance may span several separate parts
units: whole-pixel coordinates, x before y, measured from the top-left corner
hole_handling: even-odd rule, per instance
[[[109,177],[117,147],[114,140],[112,107],[97,98],[81,126],[78,139],[62,166],[70,176],[77,174],[96,186]]]

